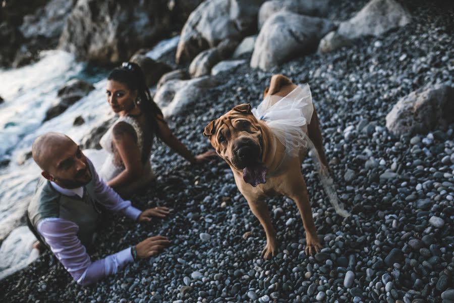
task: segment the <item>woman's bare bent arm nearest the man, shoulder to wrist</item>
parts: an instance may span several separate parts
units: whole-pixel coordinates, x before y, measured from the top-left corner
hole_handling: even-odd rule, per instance
[[[137,145],[137,135],[134,128],[126,122],[117,123],[113,129],[112,144],[115,145],[125,170],[115,178],[110,179],[107,185],[116,188],[135,181],[142,173],[142,155]]]

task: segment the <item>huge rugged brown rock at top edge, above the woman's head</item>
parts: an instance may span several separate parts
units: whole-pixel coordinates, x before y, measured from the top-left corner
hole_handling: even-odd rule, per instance
[[[150,46],[171,28],[167,1],[78,0],[60,38],[60,48],[80,60],[117,64]]]

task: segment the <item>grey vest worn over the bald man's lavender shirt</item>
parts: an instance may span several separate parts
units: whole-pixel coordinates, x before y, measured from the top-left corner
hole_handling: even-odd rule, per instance
[[[92,176],[94,168],[88,161]],[[94,193],[94,178],[84,186],[84,195],[67,196],[56,191],[50,181],[40,177],[35,194],[28,206],[28,218],[36,230],[38,222],[45,218],[62,218],[74,222],[79,231],[77,236],[85,247],[92,244],[98,226],[99,210]],[[42,239],[44,241],[44,239]],[[45,241],[44,241],[45,242]]]

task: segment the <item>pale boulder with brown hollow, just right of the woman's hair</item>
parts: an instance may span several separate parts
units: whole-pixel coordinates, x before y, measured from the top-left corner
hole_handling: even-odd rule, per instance
[[[191,80],[170,80],[156,91],[154,102],[161,108],[164,117],[173,116],[197,102],[206,89],[216,85],[217,82],[210,76]]]

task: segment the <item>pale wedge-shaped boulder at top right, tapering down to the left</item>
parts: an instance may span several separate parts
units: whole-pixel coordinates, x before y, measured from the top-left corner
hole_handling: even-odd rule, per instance
[[[336,33],[324,37],[319,52],[331,52],[362,36],[380,36],[410,21],[411,15],[394,0],[372,0],[353,18],[341,22]]]

